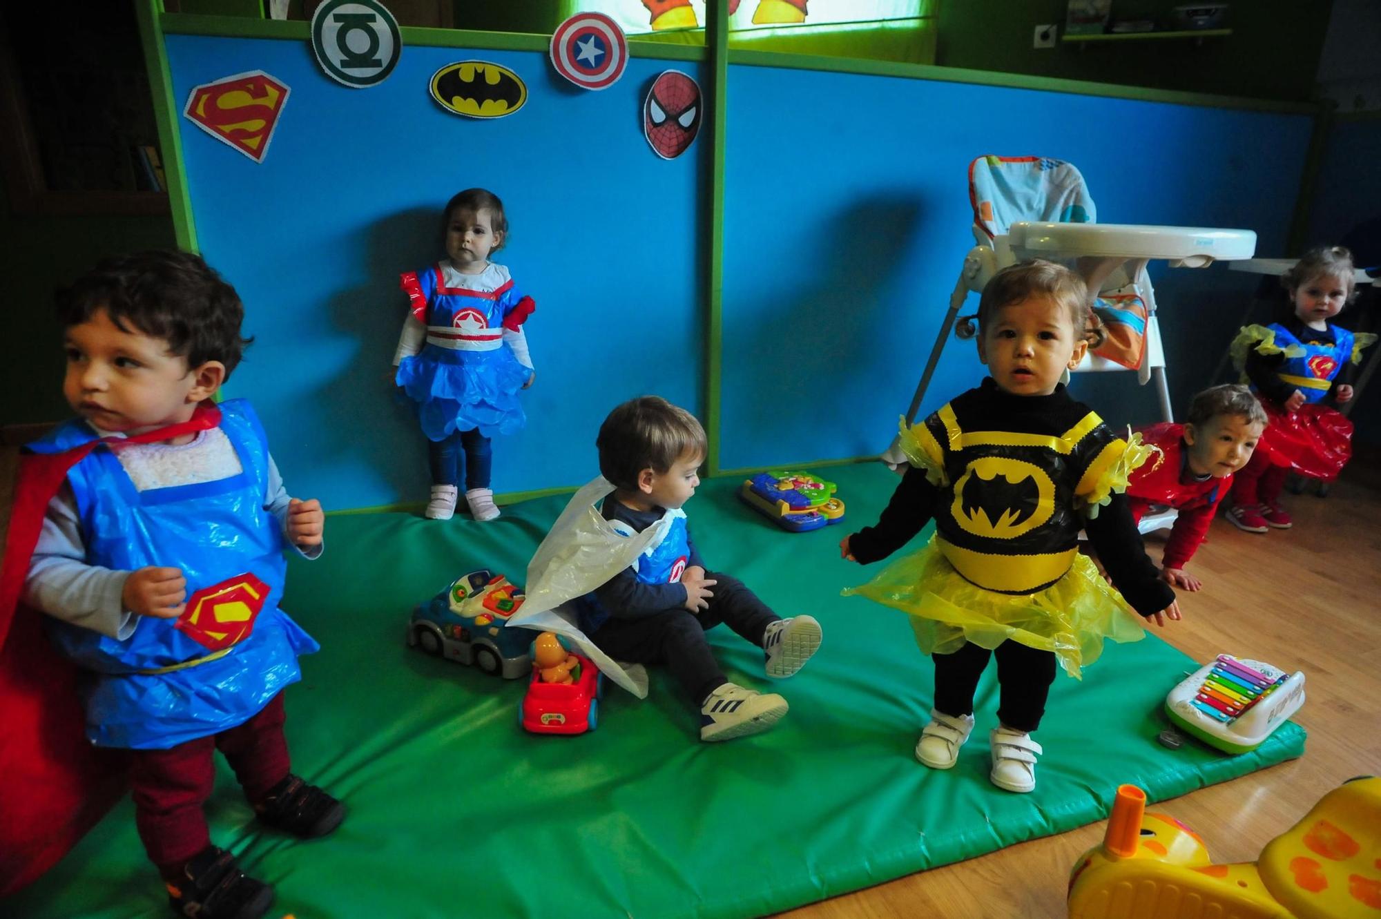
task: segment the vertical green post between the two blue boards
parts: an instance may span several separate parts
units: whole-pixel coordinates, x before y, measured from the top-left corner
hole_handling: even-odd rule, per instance
[[[706,279],[706,322],[704,322],[704,421],[706,421],[706,471],[714,476],[720,472],[720,426],[722,411],[721,373],[724,349],[724,144],[728,137],[728,81],[729,81],[729,10],[726,0],[710,0],[706,4],[706,36],[710,40],[710,66],[706,79],[710,80],[710,276]]]

